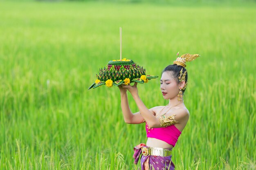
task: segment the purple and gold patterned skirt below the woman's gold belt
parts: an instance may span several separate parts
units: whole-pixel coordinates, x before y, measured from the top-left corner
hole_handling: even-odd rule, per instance
[[[139,157],[141,155],[141,170],[174,170],[175,166],[173,161],[171,161],[171,157],[160,157],[160,156],[153,156],[153,155],[147,155],[144,156],[142,154],[142,147],[148,148],[145,144],[139,144],[133,148],[134,155],[133,158],[135,159],[134,163],[137,164],[139,161]],[[168,148],[167,148],[168,149]]]

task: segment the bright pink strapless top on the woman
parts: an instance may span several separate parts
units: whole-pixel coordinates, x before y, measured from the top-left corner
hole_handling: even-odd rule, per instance
[[[176,128],[176,126],[171,125],[165,128],[150,128],[150,132],[148,132],[148,126],[146,124],[146,133],[147,137],[153,137],[155,139],[159,139],[165,141],[167,144],[175,146],[181,131]]]

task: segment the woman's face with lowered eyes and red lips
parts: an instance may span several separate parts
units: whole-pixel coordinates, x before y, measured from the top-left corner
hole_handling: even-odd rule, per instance
[[[177,81],[171,77],[171,72],[165,71],[160,79],[160,88],[164,99],[172,99],[177,97],[179,93],[179,85]]]

